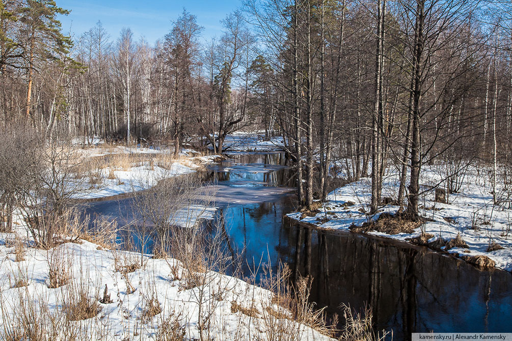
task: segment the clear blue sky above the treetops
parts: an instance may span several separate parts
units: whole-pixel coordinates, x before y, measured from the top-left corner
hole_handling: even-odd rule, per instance
[[[197,16],[198,24],[204,27],[205,40],[220,37],[222,32],[219,21],[241,5],[239,0],[56,0],[56,3],[59,7],[71,10],[68,16],[60,16],[59,19],[62,31],[67,34],[71,28],[75,38],[101,20],[112,40],[117,39],[123,27],[130,27],[136,39],[143,36],[151,43],[170,30],[172,21],[181,14],[184,7]]]

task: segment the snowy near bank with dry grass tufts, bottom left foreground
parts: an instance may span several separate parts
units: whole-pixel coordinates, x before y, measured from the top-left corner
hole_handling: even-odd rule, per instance
[[[88,241],[25,245],[20,256],[14,240],[0,235],[0,339],[330,339],[292,321],[270,291],[233,277]]]

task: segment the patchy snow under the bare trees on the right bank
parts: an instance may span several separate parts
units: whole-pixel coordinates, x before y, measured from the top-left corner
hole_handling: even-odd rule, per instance
[[[459,256],[487,256],[496,262],[496,266],[512,270],[512,210],[508,203],[494,204],[492,184],[489,174],[481,169],[470,167],[465,174],[462,187],[458,193],[450,194],[449,203],[435,202],[434,189],[442,180],[442,166],[425,167],[421,173],[421,191],[426,192],[420,198],[420,215],[427,218],[414,233],[395,235],[376,231],[369,232],[400,241],[418,237],[422,230],[434,237],[449,241],[458,235],[467,243],[468,248],[453,247],[447,252]],[[291,213],[293,219],[311,223],[321,229],[349,230],[352,225],[360,226],[365,222],[376,220],[382,213],[396,214],[398,206],[388,204],[379,209],[375,215],[369,215],[371,199],[371,179],[359,181],[338,188],[329,193],[319,212],[306,216],[301,212]],[[505,194],[504,186],[498,186],[497,193]],[[397,172],[390,172],[383,181],[382,197],[397,198],[399,178]],[[490,245],[499,244],[503,249],[487,252]],[[446,246],[441,247],[445,250]]]

